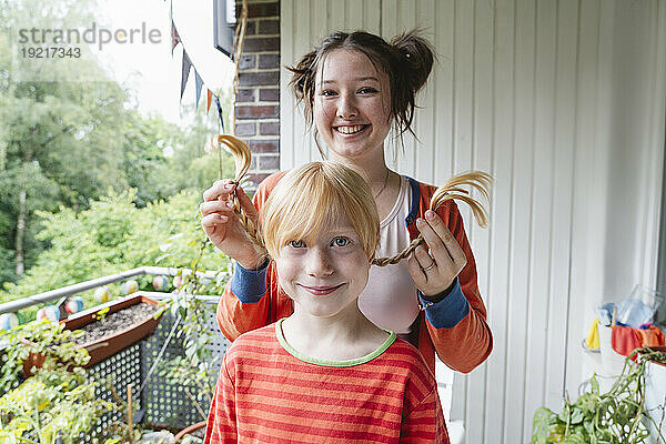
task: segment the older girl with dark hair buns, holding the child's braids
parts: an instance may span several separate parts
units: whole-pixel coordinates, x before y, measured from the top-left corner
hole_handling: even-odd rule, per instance
[[[403,251],[420,234],[425,241],[408,261],[373,265],[359,307],[375,325],[417,346],[432,371],[436,353],[451,369],[470,372],[491,353],[492,334],[462,216],[451,200],[428,210],[436,188],[391,171],[384,152],[392,129],[397,138],[412,132],[415,95],[433,59],[428,42],[415,32],[391,42],[363,31],[334,32],[290,68],[291,84],[317,144],[370,185],[382,221],[376,256]],[[294,310],[274,262],[253,246],[228,202],[235,192],[255,215],[284,173],[263,181],[253,201],[231,180],[203,193],[202,226],[236,262],[218,306],[218,323],[231,341]]]

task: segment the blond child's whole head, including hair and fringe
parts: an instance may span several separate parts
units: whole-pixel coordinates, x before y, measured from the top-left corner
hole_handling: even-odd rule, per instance
[[[260,225],[280,285],[299,313],[359,311],[380,241],[377,209],[359,173],[335,162],[289,171],[262,206]]]

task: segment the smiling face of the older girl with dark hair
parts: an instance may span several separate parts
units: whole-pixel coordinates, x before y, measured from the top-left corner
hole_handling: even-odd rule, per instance
[[[391,130],[386,73],[363,52],[337,49],[323,59],[315,79],[314,120],[333,159],[383,157]]]

